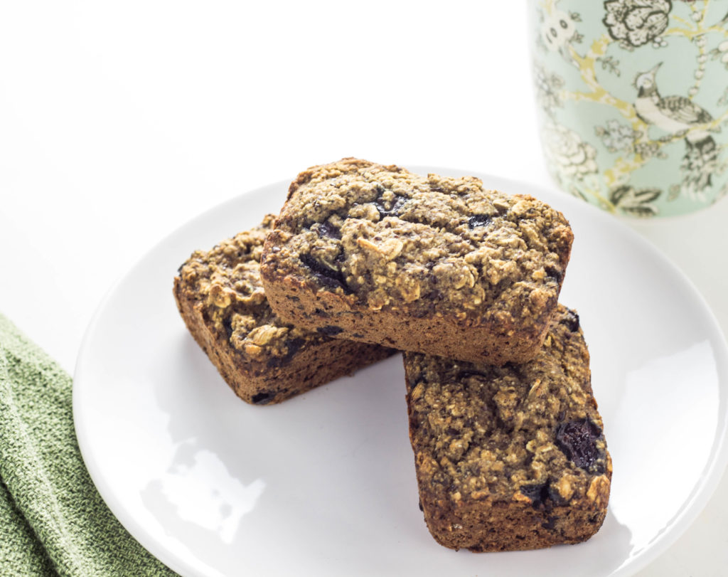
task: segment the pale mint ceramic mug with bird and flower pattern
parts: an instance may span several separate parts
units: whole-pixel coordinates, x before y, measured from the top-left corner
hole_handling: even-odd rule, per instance
[[[529,0],[529,12],[559,187],[641,217],[728,194],[728,2]]]

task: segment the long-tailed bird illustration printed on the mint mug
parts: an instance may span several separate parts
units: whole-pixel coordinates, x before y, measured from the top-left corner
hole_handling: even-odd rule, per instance
[[[638,90],[634,101],[637,116],[646,124],[665,132],[685,137],[685,155],[681,162],[684,170],[683,189],[692,197],[711,186],[711,176],[718,165],[718,147],[706,125],[713,121],[711,114],[687,96],[662,96],[657,90],[658,63],[649,71],[636,76],[634,86]]]

